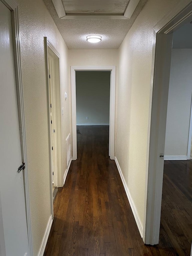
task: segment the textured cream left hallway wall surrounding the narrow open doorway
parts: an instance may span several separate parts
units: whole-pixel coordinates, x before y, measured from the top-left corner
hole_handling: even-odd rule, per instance
[[[68,49],[43,1],[18,0],[18,3],[32,241],[37,256],[51,215],[44,36],[61,56],[64,140],[70,131],[69,100],[65,101],[63,96],[68,92]],[[65,152],[65,143],[63,147]]]

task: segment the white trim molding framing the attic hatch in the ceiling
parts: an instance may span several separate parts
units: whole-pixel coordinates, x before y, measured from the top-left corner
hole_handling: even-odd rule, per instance
[[[131,19],[140,0],[129,0],[124,14],[66,14],[61,0],[52,0],[57,15],[60,19]]]

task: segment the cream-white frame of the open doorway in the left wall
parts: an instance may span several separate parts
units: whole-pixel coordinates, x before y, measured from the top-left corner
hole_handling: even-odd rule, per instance
[[[60,118],[57,118],[57,125],[58,125],[58,131],[56,135],[56,140],[57,140],[57,160],[58,160],[58,169],[54,173],[55,175],[55,186],[56,187],[62,187],[63,186],[63,179],[62,179],[62,170],[63,170],[63,140],[62,140],[62,98],[61,98],[61,60],[60,60],[60,54],[58,51],[55,49],[55,47],[47,40],[46,37],[44,37],[44,47],[45,47],[45,62],[46,62],[46,83],[47,83],[47,101],[48,101],[48,122],[49,122],[49,165],[50,165],[50,197],[51,197],[51,213],[52,213],[52,218],[53,218],[53,192],[52,192],[52,157],[51,157],[51,151],[52,151],[52,142],[51,142],[51,119],[50,119],[50,88],[49,88],[49,65],[48,65],[48,49],[50,49],[57,57],[59,60],[59,100],[57,104],[59,104],[60,108]]]

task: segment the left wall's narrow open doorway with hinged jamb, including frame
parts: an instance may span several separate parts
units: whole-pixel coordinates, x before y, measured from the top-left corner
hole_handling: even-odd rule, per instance
[[[62,187],[62,125],[61,125],[61,83],[60,55],[52,44],[44,38],[47,64],[49,155],[50,155],[50,193],[51,205]],[[53,206],[52,206],[53,207]],[[53,214],[53,209],[52,209]]]

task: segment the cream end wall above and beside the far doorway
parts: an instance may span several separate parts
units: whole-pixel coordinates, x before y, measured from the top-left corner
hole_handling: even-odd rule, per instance
[[[116,92],[118,79],[118,50],[69,50],[69,87],[71,102],[71,66],[116,66]],[[117,116],[117,115],[116,115]],[[71,120],[71,105],[70,105],[70,120]],[[116,130],[115,130],[116,131]],[[72,133],[72,124],[70,125]],[[115,134],[116,137],[116,134]],[[72,151],[72,147],[71,147]]]

